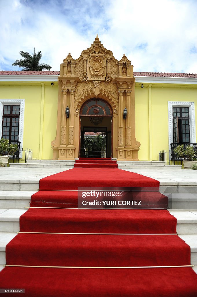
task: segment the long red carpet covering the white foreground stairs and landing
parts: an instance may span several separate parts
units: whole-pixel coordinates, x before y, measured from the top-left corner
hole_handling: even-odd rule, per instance
[[[159,182],[117,168],[74,168],[43,178],[40,189],[45,191],[32,196],[31,206],[50,208],[30,208],[20,217],[20,232],[40,233],[19,233],[10,241],[7,265],[79,268],[6,267],[0,272],[1,288],[25,288],[27,297],[197,296],[197,275],[191,267],[124,268],[190,265],[190,247],[169,235],[176,233],[176,218],[167,210],[76,209],[77,192],[71,190],[78,187],[157,190]],[[156,198],[158,192],[137,195]],[[43,234],[47,232],[123,235]]]

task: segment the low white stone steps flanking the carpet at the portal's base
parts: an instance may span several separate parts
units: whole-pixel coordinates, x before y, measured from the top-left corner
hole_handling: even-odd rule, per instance
[[[116,159],[113,159],[116,160]],[[12,168],[74,168],[73,160],[27,160],[26,163],[9,163]],[[181,169],[181,165],[165,165],[161,161],[117,161],[119,169]]]

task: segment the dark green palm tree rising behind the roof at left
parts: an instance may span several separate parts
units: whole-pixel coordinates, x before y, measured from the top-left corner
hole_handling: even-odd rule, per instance
[[[50,70],[52,68],[48,64],[39,64],[42,56],[41,51],[39,51],[37,54],[34,51],[32,55],[27,52],[25,53],[22,50],[19,53],[24,59],[16,60],[12,66],[23,67],[24,69],[22,69],[22,71],[43,71]]]

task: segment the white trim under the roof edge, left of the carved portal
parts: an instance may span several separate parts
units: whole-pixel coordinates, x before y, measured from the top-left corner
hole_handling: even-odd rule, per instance
[[[7,75],[0,75],[0,82],[11,82],[11,81],[20,81],[20,82],[26,82],[26,81],[34,81],[34,82],[47,82],[47,81],[57,81],[58,79],[57,74],[44,74],[44,75],[12,75],[12,74],[7,74]]]

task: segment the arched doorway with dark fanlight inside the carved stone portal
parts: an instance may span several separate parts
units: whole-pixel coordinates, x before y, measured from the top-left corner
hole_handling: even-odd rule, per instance
[[[92,98],[82,105],[80,109],[79,157],[111,157],[112,120],[112,109],[103,99]]]

